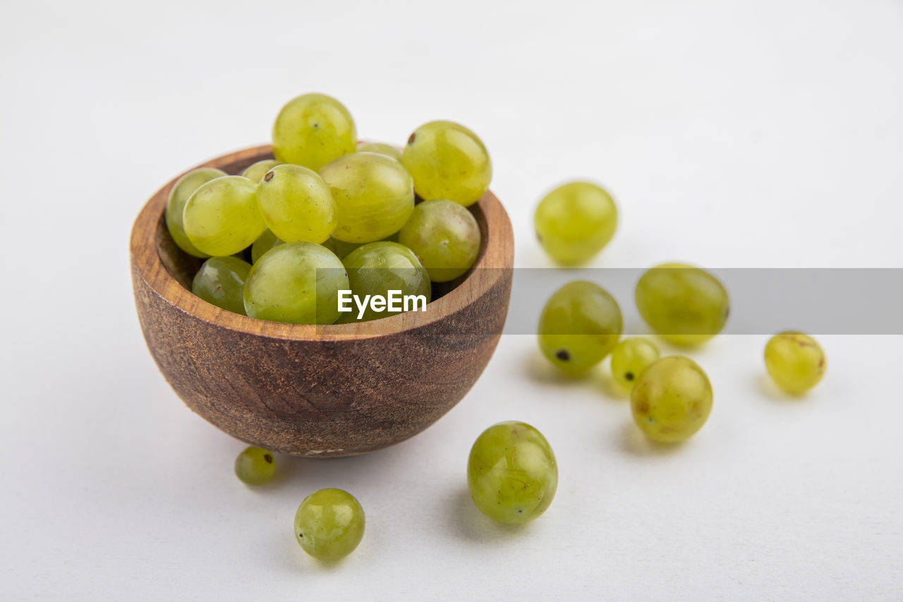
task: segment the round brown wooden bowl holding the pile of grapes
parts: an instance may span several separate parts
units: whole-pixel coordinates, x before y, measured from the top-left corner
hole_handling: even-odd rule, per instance
[[[238,174],[272,157],[270,146],[257,146],[200,166]],[[200,259],[175,245],[163,219],[174,182],[132,229],[138,319],[172,389],[229,435],[297,456],[362,454],[429,427],[489,362],[514,262],[511,222],[492,193],[470,208],[483,238],[477,263],[434,286],[425,312],[314,326],[232,314],[191,294]]]

